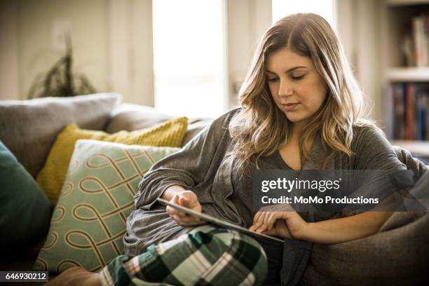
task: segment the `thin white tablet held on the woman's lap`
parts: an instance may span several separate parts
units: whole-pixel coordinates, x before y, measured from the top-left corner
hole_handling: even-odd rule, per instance
[[[200,219],[203,219],[205,222],[210,222],[211,224],[215,224],[217,226],[223,226],[229,229],[233,229],[235,231],[240,231],[241,233],[246,233],[250,236],[268,238],[271,240],[278,241],[280,243],[283,243],[285,241],[280,238],[276,238],[275,236],[268,236],[264,233],[257,233],[256,231],[251,231],[250,229],[246,229],[245,227],[242,227],[242,226],[236,226],[235,224],[231,224],[231,222],[226,222],[222,219],[218,219],[217,217],[212,217],[209,214],[203,214],[201,212],[196,212],[195,210],[191,210],[187,207],[182,207],[181,205],[170,203],[168,200],[163,200],[162,198],[158,198],[158,203],[161,203],[163,205],[170,205],[170,207],[174,207],[176,210],[180,210],[193,217],[198,217]]]

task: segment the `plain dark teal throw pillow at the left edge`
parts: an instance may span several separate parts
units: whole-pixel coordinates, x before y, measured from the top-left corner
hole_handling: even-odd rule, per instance
[[[0,250],[16,252],[48,233],[53,203],[0,141]]]

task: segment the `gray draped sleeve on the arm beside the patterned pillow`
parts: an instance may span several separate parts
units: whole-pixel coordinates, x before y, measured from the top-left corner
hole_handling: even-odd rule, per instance
[[[219,168],[222,149],[229,139],[229,121],[237,109],[214,120],[180,151],[158,161],[144,175],[135,195],[135,207],[150,210],[165,189],[172,185],[193,190],[210,170]]]

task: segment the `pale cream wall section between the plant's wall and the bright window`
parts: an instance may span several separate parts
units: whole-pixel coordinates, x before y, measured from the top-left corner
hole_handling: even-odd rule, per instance
[[[154,106],[152,0],[109,0],[111,90]]]

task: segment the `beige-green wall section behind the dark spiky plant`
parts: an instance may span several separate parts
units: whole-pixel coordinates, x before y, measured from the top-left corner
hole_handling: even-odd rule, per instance
[[[52,46],[55,21],[70,24],[74,71],[87,76],[97,91],[109,90],[107,8],[105,0],[19,0],[17,98],[27,97],[34,78],[64,54]]]

